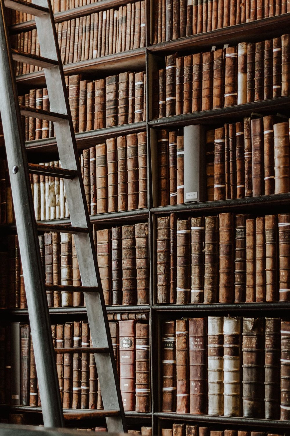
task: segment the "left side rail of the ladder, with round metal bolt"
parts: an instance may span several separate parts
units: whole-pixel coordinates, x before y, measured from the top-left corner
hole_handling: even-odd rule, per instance
[[[0,89],[5,90],[5,92],[2,92],[0,99],[0,112],[20,256],[23,264],[27,307],[42,401],[43,422],[46,427],[62,427],[63,410],[3,0],[0,0],[0,8]],[[14,166],[18,167],[16,174],[12,171]]]

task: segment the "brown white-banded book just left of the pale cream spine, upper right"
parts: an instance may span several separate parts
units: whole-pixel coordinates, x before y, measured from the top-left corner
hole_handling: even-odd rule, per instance
[[[224,107],[237,104],[237,47],[226,48],[225,54],[225,83],[224,83]]]

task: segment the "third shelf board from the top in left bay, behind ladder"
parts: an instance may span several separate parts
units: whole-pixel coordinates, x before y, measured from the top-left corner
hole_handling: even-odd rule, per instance
[[[143,132],[145,130],[146,121],[141,121],[140,123],[122,124],[121,126],[104,127],[103,129],[76,133],[77,148],[83,150],[89,146],[100,144],[108,138]],[[25,146],[26,150],[29,152],[57,153],[57,141],[55,137],[27,141]]]

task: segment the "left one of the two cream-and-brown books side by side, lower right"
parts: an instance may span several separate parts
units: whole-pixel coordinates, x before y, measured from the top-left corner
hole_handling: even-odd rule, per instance
[[[208,415],[223,415],[223,317],[207,318]]]

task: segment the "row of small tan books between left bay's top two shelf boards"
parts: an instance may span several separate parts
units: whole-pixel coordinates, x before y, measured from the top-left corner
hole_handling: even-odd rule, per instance
[[[64,65],[145,47],[145,0],[73,18],[55,26]],[[11,44],[19,51],[40,54],[36,29],[12,35]],[[19,62],[15,64],[16,75],[41,69],[28,64],[22,66]]]

